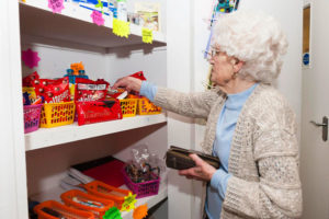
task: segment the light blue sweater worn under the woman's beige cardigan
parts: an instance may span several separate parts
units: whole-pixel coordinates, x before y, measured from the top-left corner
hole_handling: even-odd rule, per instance
[[[235,127],[242,106],[256,87],[257,83],[241,93],[228,94],[220,112],[217,122],[213,155],[219,158],[222,165],[215,172],[211,180],[211,183],[207,186],[205,210],[209,219],[217,219],[220,216],[222,204],[225,198],[227,187],[227,180],[230,177],[230,174],[228,173],[230,141],[232,139]],[[156,85],[147,81],[143,81],[140,95],[144,95],[150,101],[154,101],[156,93]]]

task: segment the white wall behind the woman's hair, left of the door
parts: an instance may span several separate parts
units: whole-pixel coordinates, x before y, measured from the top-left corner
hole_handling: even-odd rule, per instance
[[[290,43],[287,54],[277,80],[277,89],[292,104],[298,123],[300,139],[302,124],[302,27],[303,27],[303,0],[248,0],[240,1],[241,10],[263,10],[273,15],[282,24]]]

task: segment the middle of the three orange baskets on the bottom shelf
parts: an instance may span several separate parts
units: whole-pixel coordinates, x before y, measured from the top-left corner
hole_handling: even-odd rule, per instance
[[[113,200],[100,198],[78,189],[68,191],[61,194],[60,198],[67,206],[92,212],[95,219],[101,219],[105,211],[114,206]]]

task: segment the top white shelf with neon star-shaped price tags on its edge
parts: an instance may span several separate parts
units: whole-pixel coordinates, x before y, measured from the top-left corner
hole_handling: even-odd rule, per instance
[[[21,33],[24,35],[55,38],[71,43],[80,43],[102,48],[113,48],[126,45],[140,45],[141,27],[131,24],[128,38],[112,33],[112,18],[103,15],[104,26],[92,23],[91,11],[72,2],[66,3],[61,13],[53,13],[48,1],[26,0],[20,2]],[[145,44],[144,44],[145,45]],[[166,36],[161,32],[154,32],[152,46],[166,45]]]

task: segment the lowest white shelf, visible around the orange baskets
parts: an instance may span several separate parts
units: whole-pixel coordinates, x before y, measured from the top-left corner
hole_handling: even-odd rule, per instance
[[[127,187],[125,185],[121,186],[121,188],[127,189]],[[39,201],[39,203],[45,201],[45,200],[57,200],[57,201],[61,203],[60,194],[63,194],[66,191],[61,187],[54,187],[45,193],[31,196],[31,199]],[[154,207],[155,205],[157,205],[158,203],[160,203],[161,200],[167,198],[167,196],[168,196],[167,182],[164,180],[164,181],[161,181],[161,183],[160,183],[158,195],[137,199],[135,207],[147,204],[148,209],[150,209],[151,207]],[[133,212],[134,212],[134,210],[131,210],[129,212],[123,211],[122,218],[123,219],[133,219]]]

